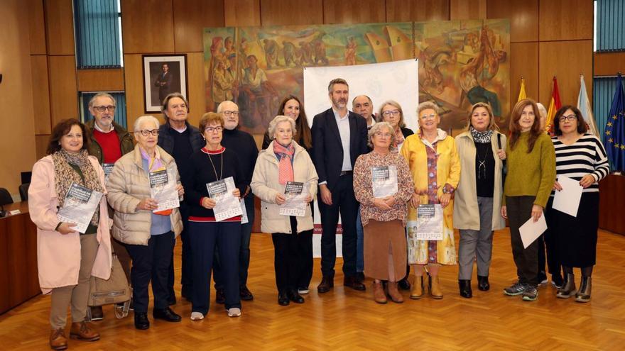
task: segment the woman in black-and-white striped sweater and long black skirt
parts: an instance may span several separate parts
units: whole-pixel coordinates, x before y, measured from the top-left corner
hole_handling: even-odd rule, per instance
[[[575,294],[575,301],[590,301],[592,267],[597,256],[597,228],[599,227],[599,180],[609,173],[606,151],[599,139],[587,132],[588,127],[580,110],[562,106],[553,119],[555,137],[556,179],[553,189],[562,190],[561,177],[580,182],[584,188],[576,217],[560,211],[549,216],[549,228],[555,234],[558,261],[565,272],[564,284],[557,296],[566,299]],[[552,192],[551,196],[555,194]],[[552,202],[552,201],[550,201]],[[580,289],[575,292],[573,267],[582,270]]]

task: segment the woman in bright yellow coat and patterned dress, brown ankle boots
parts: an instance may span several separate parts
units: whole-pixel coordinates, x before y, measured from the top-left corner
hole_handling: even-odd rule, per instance
[[[408,263],[413,264],[415,283],[411,299],[423,296],[423,269],[428,266],[430,295],[442,299],[438,279],[441,264],[456,264],[454,244],[453,194],[460,181],[460,159],[454,138],[438,128],[438,106],[428,101],[418,106],[418,133],[408,136],[401,155],[410,165],[415,189],[408,210]],[[417,208],[420,204],[440,204],[442,240],[418,240]]]

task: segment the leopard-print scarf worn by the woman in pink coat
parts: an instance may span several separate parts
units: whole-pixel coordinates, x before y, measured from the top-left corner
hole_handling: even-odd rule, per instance
[[[80,184],[85,186],[85,188],[102,192],[102,183],[100,183],[100,179],[98,178],[93,165],[89,162],[89,158],[87,158],[88,155],[87,150],[80,150],[75,154],[70,154],[63,149],[52,154],[55,189],[60,207],[65,204],[65,195],[67,195],[67,191],[70,189],[70,186],[72,186],[72,183]],[[72,165],[77,165],[80,168],[80,172],[82,172],[82,177],[85,178],[85,182],[82,181],[80,174],[78,174],[78,172],[70,166],[70,163]],[[96,210],[91,218],[91,224],[98,225],[98,222],[99,211]]]

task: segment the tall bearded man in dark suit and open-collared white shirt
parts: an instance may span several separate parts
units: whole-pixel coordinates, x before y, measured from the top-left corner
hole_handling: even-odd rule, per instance
[[[341,214],[343,228],[344,286],[364,290],[356,274],[356,216],[352,169],[356,159],[369,148],[366,145],[366,121],[347,110],[349,85],[344,79],[332,79],[327,87],[332,108],[312,120],[312,162],[319,174],[319,211],[321,214],[321,272],[317,291],[325,293],[334,286],[337,256],[336,231]]]

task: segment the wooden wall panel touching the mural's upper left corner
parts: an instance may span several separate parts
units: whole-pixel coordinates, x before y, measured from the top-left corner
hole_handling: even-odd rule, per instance
[[[175,51],[204,52],[202,29],[224,23],[224,0],[173,0]]]

